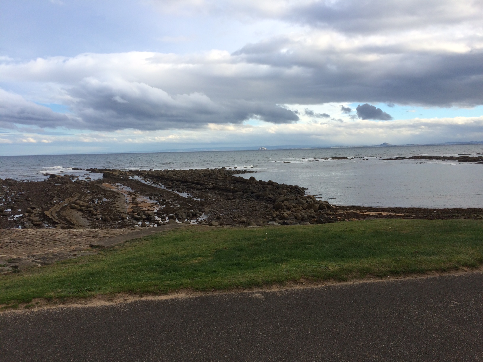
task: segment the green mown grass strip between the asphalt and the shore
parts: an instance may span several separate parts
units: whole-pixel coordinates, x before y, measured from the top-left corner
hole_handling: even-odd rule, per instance
[[[222,290],[474,268],[483,221],[374,220],[245,229],[189,227],[0,276],[0,304],[118,292]]]

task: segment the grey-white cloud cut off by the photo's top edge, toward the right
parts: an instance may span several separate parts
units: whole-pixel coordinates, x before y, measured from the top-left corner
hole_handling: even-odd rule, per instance
[[[151,0],[173,10],[171,1]],[[483,3],[474,0],[280,0],[266,6],[263,1],[205,0],[176,1],[181,12],[202,12],[242,21],[277,19],[298,25],[324,27],[346,32],[377,32],[382,29],[426,28],[461,22],[481,22]]]

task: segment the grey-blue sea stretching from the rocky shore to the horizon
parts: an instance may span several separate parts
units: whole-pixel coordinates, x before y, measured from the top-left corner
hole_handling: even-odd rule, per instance
[[[47,173],[95,179],[75,168],[249,169],[257,180],[299,185],[334,205],[483,208],[483,164],[384,158],[483,153],[483,144],[260,151],[66,154],[0,157],[0,178],[44,180]],[[330,157],[349,157],[335,160]],[[328,159],[327,159],[328,158]]]

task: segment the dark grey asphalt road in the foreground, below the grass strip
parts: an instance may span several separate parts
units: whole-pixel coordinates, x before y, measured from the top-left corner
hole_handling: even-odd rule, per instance
[[[1,361],[483,361],[483,273],[0,315]]]

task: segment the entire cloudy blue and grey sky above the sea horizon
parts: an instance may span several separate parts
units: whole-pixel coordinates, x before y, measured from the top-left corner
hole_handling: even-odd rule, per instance
[[[0,155],[483,141],[483,0],[2,0]]]

